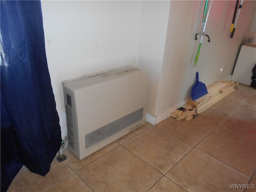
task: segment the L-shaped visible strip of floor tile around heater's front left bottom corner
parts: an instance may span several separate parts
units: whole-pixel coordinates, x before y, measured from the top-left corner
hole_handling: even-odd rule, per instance
[[[64,151],[64,154],[68,157],[67,160],[65,160],[65,163],[68,164],[74,172],[80,170],[84,166],[88,165],[89,163],[93,162],[100,156],[106,154],[110,150],[118,147],[119,144],[117,142],[112,142],[105,146],[104,148],[101,148],[100,150],[94,152],[93,154],[90,154],[86,158],[83,158],[82,160],[78,159],[68,148]]]

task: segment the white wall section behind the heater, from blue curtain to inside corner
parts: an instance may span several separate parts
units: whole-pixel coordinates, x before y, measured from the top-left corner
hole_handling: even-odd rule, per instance
[[[119,66],[135,66],[139,1],[41,1],[46,56],[62,138],[62,81]]]

